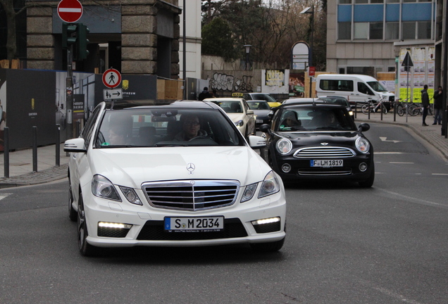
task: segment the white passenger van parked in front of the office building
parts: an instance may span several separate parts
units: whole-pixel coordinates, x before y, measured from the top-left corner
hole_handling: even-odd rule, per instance
[[[316,80],[316,95],[344,96],[350,103],[366,102],[369,99],[394,101],[395,96],[387,91],[375,78],[367,75],[321,74]],[[390,106],[390,103],[387,104]]]

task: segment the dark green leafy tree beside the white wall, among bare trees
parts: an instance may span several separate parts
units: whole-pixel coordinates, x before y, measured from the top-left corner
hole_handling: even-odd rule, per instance
[[[231,61],[237,58],[234,44],[230,27],[222,18],[214,18],[202,27],[203,54],[221,56],[225,61]]]

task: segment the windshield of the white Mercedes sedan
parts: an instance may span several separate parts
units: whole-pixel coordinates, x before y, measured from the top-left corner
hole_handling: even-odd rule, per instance
[[[244,145],[220,110],[184,108],[107,110],[95,143],[97,148]]]

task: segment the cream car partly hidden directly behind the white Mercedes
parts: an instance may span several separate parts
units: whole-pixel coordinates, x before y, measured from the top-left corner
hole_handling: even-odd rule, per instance
[[[249,108],[247,101],[242,98],[213,98],[204,99],[211,101],[220,106],[225,113],[235,123],[244,138],[248,139],[249,135],[255,134],[255,115],[254,111]]]

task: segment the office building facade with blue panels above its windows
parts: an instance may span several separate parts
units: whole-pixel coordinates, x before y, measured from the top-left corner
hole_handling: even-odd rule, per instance
[[[395,72],[402,49],[434,46],[435,12],[435,0],[328,1],[327,70]]]

